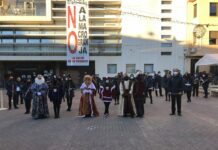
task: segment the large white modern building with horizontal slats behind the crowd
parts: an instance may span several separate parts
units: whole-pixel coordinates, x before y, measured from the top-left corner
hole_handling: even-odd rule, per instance
[[[89,0],[90,66],[66,66],[65,0],[0,0],[6,74],[184,71],[186,0]],[[179,31],[179,33],[178,33]],[[1,82],[2,83],[2,82]]]

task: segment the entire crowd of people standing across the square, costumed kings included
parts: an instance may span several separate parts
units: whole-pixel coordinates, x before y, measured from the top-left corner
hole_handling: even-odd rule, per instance
[[[185,93],[187,102],[191,102],[192,96],[198,96],[199,86],[202,85],[204,97],[208,97],[208,87],[210,80],[206,72],[191,75],[182,75],[178,69],[165,72],[162,77],[161,72],[144,74],[138,71],[136,75],[118,73],[115,77],[103,77],[85,75],[80,86],[81,98],[78,114],[88,118],[99,116],[96,105],[96,96],[104,103],[104,116],[110,114],[110,104],[114,101],[118,106],[118,115],[123,117],[143,117],[144,104],[146,99],[150,99],[153,104],[152,93],[156,96],[163,96],[162,89],[165,90],[165,100],[171,101],[171,113],[175,115],[176,110],[182,116],[181,97]],[[60,117],[61,103],[66,100],[67,111],[72,110],[74,91],[76,85],[70,75],[52,75],[46,79],[42,75],[36,76],[34,80],[30,78],[16,80],[10,76],[6,90],[8,95],[8,109],[13,106],[18,109],[18,104],[25,103],[25,114],[32,115],[33,118],[49,117],[48,98],[53,103],[54,118]],[[32,111],[31,111],[32,104]]]

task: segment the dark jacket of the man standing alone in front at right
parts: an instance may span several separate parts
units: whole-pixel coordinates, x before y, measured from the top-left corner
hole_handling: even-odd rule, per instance
[[[183,78],[181,75],[172,76],[169,80],[169,90],[172,94],[179,94],[183,92]]]

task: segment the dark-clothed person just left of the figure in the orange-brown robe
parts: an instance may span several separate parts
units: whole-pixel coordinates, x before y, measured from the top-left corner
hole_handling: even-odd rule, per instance
[[[66,83],[64,87],[64,92],[65,92],[65,96],[67,99],[67,111],[71,111],[75,89],[76,89],[76,86],[71,76],[69,76],[68,78],[66,78]]]

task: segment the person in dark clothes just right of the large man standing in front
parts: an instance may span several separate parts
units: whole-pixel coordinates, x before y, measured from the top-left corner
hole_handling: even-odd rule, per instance
[[[189,73],[186,73],[184,75],[184,92],[187,95],[187,102],[191,102],[191,93],[192,93],[192,87],[193,87],[193,80]]]

